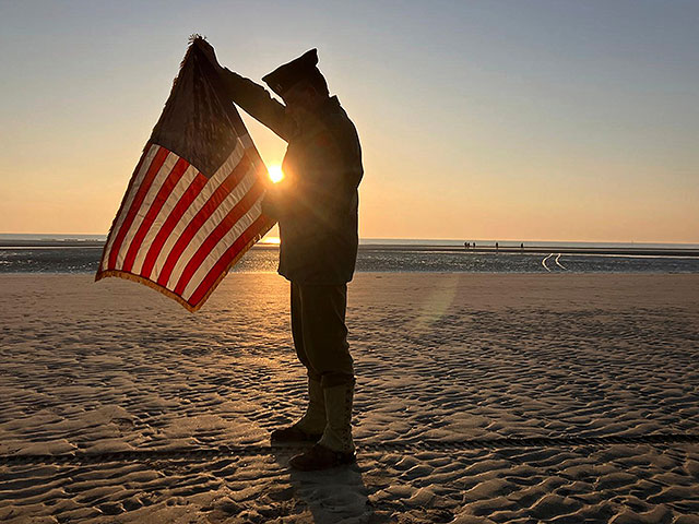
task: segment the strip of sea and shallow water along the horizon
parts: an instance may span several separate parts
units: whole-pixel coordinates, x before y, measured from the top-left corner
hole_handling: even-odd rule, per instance
[[[0,234],[0,273],[95,273],[105,236]],[[497,242],[497,248],[496,248]],[[233,272],[275,272],[279,247],[259,243]],[[699,245],[362,239],[358,272],[699,273]]]

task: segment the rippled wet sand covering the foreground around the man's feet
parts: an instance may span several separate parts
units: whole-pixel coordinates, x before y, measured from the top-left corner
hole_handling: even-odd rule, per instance
[[[276,275],[232,274],[197,314],[90,275],[0,289],[2,455],[265,445],[301,408]],[[348,324],[357,466],[5,464],[0,522],[699,522],[699,444],[419,448],[698,433],[699,275],[363,273]]]

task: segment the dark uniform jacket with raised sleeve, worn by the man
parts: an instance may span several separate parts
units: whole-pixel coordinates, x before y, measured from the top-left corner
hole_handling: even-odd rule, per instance
[[[261,85],[225,70],[232,99],[288,145],[284,179],[262,203],[280,226],[279,273],[301,285],[352,279],[357,259],[357,188],[364,174],[357,131],[333,96],[296,122]]]

